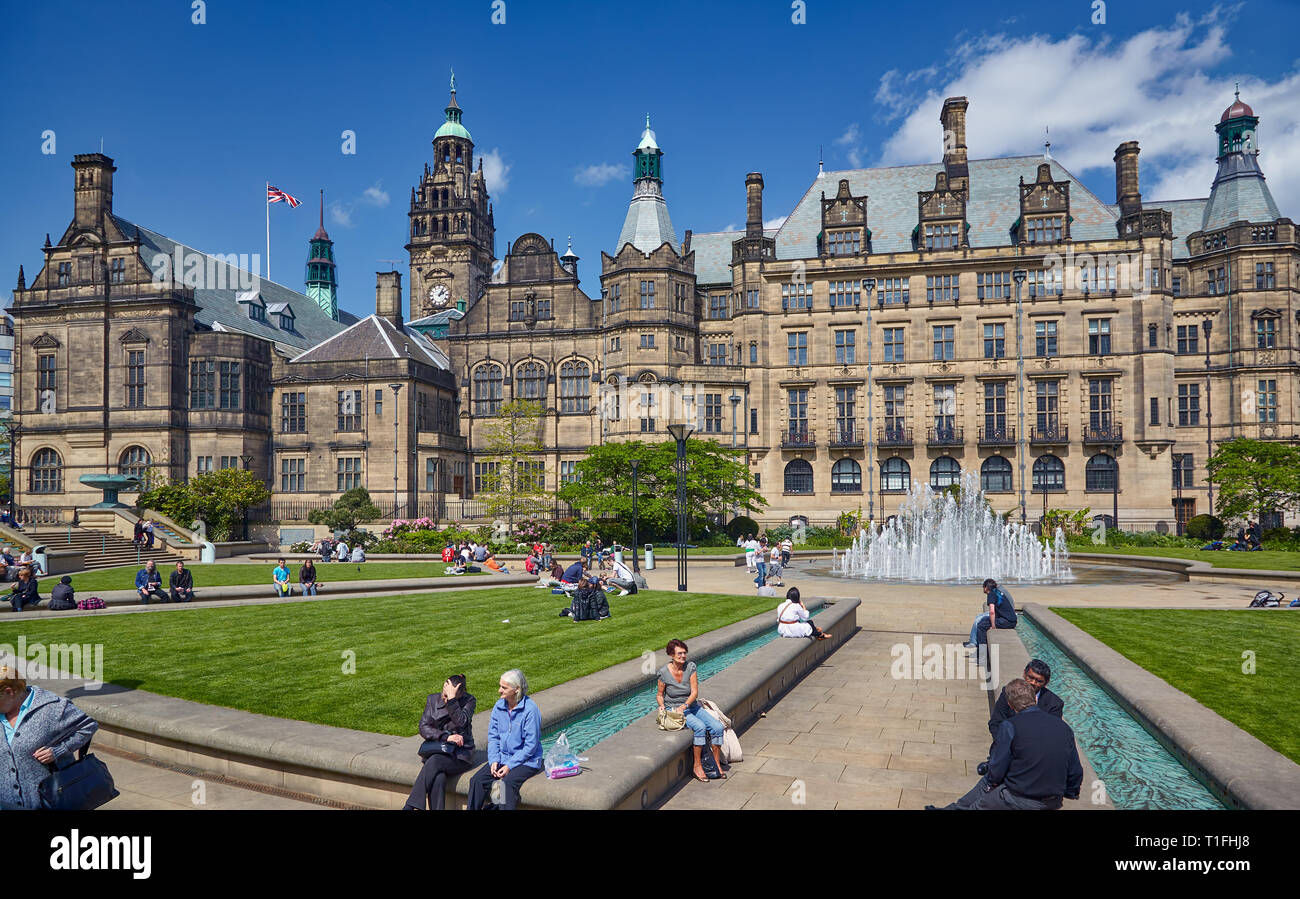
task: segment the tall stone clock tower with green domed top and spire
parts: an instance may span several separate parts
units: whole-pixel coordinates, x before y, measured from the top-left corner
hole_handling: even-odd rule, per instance
[[[410,295],[413,320],[448,307],[469,308],[491,274],[495,259],[493,209],[482,160],[474,166],[474,143],[460,122],[456,77],[446,121],[433,135],[433,166],[424,166],[411,188]]]

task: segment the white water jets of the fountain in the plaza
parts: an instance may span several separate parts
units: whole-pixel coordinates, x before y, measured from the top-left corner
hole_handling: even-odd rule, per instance
[[[970,472],[956,495],[913,482],[898,513],[884,526],[872,521],[861,530],[849,550],[835,555],[832,570],[881,581],[1074,579],[1065,531],[1058,527],[1049,543],[1024,525],[1002,521]]]

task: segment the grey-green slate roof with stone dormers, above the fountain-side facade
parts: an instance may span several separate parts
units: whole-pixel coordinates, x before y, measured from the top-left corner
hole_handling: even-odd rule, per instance
[[[1052,165],[1054,181],[1070,181],[1070,225],[1075,240],[1115,238],[1115,213],[1096,194],[1070,174],[1057,160],[1043,156],[1010,156],[970,161],[970,201],[966,221],[972,247],[1005,247],[1011,243],[1010,227],[1020,216],[1019,183],[1037,177],[1043,162]],[[916,227],[916,194],[935,188],[935,175],[942,162],[900,165],[884,169],[827,171],[815,178],[794,212],[776,233],[777,259],[816,256],[816,235],[822,230],[822,191],[835,196],[840,179],[848,178],[854,196],[867,195],[867,227],[872,253],[911,252]]]

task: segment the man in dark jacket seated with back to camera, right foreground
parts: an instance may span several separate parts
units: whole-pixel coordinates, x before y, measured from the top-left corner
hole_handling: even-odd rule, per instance
[[[1017,678],[1006,685],[1015,712],[997,728],[988,773],[949,809],[1056,809],[1078,799],[1083,765],[1074,731],[1034,703],[1034,687]],[[927,805],[933,808],[933,805]]]

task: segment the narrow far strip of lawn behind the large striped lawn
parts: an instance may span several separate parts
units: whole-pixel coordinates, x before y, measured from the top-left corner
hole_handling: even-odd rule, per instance
[[[300,563],[289,564],[289,582],[295,585],[295,590],[299,566]],[[124,565],[122,568],[104,568],[98,572],[73,574],[73,589],[78,596],[90,596],[92,592],[105,592],[108,590],[134,590],[135,573],[143,565]],[[186,568],[194,572],[194,589],[196,591],[204,587],[237,587],[255,583],[265,583],[269,587],[270,573],[274,570],[276,563],[213,563],[212,565],[194,565],[187,563]],[[361,565],[354,565],[352,563],[329,563],[328,565],[317,563],[316,579],[320,583],[330,585],[347,581],[455,577],[446,574],[446,563],[442,561],[364,563]],[[160,564],[159,570],[162,574],[162,586],[166,587],[168,572],[176,570],[176,563]],[[519,570],[524,570],[521,563],[519,564]],[[515,573],[514,565],[511,565],[511,573]],[[40,578],[40,592],[48,594],[56,583],[58,583],[57,576]]]

